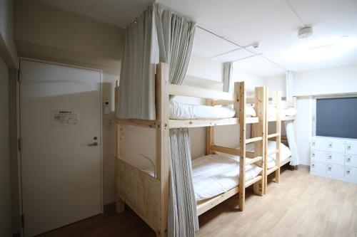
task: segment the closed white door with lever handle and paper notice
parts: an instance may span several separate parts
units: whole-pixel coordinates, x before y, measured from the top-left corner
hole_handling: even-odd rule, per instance
[[[21,60],[24,236],[101,213],[101,72]]]

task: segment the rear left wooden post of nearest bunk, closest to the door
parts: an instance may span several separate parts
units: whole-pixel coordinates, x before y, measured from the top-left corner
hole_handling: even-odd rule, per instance
[[[114,102],[115,102],[115,114],[118,114],[119,110],[119,82],[116,80],[115,82],[115,93],[114,93]],[[124,159],[125,151],[124,151],[124,125],[116,125],[116,162],[115,162],[115,177],[116,177],[116,212],[121,213],[124,211],[125,203],[119,197],[119,164],[117,159]]]

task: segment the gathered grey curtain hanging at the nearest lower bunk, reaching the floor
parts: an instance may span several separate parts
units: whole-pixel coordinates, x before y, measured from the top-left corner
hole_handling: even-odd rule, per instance
[[[198,230],[188,129],[170,130],[169,236],[195,236]]]

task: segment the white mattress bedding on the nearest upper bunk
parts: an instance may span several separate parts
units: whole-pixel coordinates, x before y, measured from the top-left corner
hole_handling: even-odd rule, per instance
[[[236,110],[231,106],[186,105],[181,102],[170,102],[171,120],[220,119],[234,117]],[[246,107],[246,115],[256,116],[253,107]]]

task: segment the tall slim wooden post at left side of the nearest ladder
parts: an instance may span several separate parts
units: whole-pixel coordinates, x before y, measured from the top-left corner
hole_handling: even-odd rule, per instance
[[[239,108],[239,211],[244,211],[244,202],[246,199],[246,87],[244,82],[234,83],[234,93],[239,95],[239,98],[234,102],[234,107],[237,111]]]

